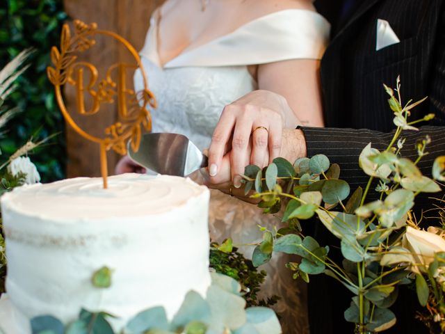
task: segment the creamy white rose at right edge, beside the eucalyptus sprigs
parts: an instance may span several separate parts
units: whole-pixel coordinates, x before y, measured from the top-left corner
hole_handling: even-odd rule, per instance
[[[414,262],[421,271],[426,271],[434,260],[435,253],[445,252],[445,240],[439,235],[408,226],[403,235],[403,247],[412,252]],[[414,267],[414,271],[417,266]]]

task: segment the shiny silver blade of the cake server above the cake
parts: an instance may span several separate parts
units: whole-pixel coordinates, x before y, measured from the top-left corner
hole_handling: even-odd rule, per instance
[[[182,134],[143,134],[137,152],[129,143],[128,155],[136,164],[166,175],[187,176],[208,165],[207,157]]]

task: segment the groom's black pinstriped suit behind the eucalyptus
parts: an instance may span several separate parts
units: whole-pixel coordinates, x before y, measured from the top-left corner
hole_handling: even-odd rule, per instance
[[[361,150],[369,142],[382,150],[392,138],[394,115],[382,84],[394,87],[398,75],[405,103],[428,96],[426,102],[414,109],[411,120],[428,113],[436,115],[420,132],[403,132],[407,137],[403,156],[415,159],[414,143],[426,134],[432,143],[427,150],[430,154],[419,164],[423,173],[430,175],[432,161],[445,154],[445,0],[359,2],[355,12],[343,20],[343,26],[333,32],[321,61],[327,128],[302,128],[307,155],[323,153],[340,164],[341,178],[353,190],[368,180],[357,163]],[[376,51],[378,19],[389,22],[400,42]],[[323,227],[317,228],[315,234],[321,243],[335,244]],[[353,327],[347,326],[343,319],[343,311],[350,304],[350,292],[331,278],[313,277],[315,284],[309,285],[308,303],[311,333],[353,333]],[[415,292],[405,291],[400,295],[403,296],[399,297],[398,305],[391,308],[398,323],[385,333],[428,333],[414,320],[414,308],[418,305]]]

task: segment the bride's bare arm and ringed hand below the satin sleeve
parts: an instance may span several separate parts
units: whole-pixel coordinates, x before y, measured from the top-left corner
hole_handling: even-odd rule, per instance
[[[227,105],[213,132],[210,182],[225,157],[230,161],[234,186],[239,187],[245,166],[266,166],[278,157],[284,128],[323,126],[318,66],[319,61],[314,60],[259,65],[260,90]],[[250,141],[252,151],[248,150]]]

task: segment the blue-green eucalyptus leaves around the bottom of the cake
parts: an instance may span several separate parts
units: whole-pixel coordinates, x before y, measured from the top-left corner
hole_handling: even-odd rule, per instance
[[[245,308],[241,285],[229,276],[211,272],[212,283],[204,299],[197,292],[188,292],[171,321],[163,307],[144,310],[133,317],[123,334],[279,334],[280,322],[273,310],[264,307]],[[103,267],[92,274],[92,285],[106,289],[112,284],[111,270]],[[114,334],[106,312],[81,310],[79,319],[66,327],[56,317],[31,319],[33,334],[100,333]]]

